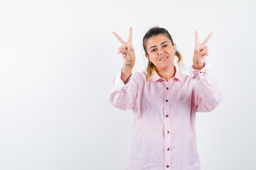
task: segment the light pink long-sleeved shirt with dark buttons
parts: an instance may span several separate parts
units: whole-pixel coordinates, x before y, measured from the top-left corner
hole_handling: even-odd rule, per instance
[[[177,71],[166,82],[157,72],[146,83],[146,71],[127,83],[121,71],[112,80],[107,99],[122,110],[132,109],[132,139],[124,170],[200,170],[195,113],[211,112],[223,100],[220,88],[204,68]]]

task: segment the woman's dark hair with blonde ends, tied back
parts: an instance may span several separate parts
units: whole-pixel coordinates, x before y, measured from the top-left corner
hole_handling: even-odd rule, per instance
[[[144,48],[144,51],[145,51],[146,55],[148,55],[147,48],[146,48],[147,41],[151,37],[159,35],[159,34],[166,35],[168,37],[168,39],[171,40],[171,44],[173,45],[173,39],[172,39],[170,33],[166,29],[160,28],[159,26],[151,27],[143,37],[143,48]],[[177,64],[178,64],[179,69],[181,71],[180,66],[183,66],[183,64],[182,64],[182,55],[180,54],[179,51],[177,51],[177,49],[176,49],[175,55],[177,56],[177,59],[178,59]],[[154,72],[156,71],[156,67],[154,66],[153,63],[150,64],[150,62],[148,60],[148,66],[147,66],[145,71],[147,71],[147,73],[148,73],[148,75],[146,75],[146,82],[149,82],[152,79]]]

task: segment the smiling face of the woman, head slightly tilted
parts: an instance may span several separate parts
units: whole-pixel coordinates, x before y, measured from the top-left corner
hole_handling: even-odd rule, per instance
[[[166,69],[173,65],[175,58],[176,45],[171,44],[171,40],[166,35],[159,34],[151,37],[146,43],[146,48],[150,62],[152,62],[157,69]],[[161,60],[162,58],[166,59]]]

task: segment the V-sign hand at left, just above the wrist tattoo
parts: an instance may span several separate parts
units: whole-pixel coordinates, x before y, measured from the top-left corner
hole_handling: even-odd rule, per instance
[[[117,35],[117,33],[115,33],[114,31],[113,31],[113,34],[119,40],[119,42],[122,43],[122,46],[118,48],[119,50],[118,53],[119,54],[121,53],[123,59],[126,62],[135,62],[135,52],[132,47],[132,27],[130,27],[129,29],[129,37],[127,42],[124,42],[124,40],[119,35]],[[127,50],[128,52],[126,53]]]

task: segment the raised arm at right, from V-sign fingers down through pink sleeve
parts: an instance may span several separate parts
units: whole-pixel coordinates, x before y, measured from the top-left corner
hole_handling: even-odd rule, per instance
[[[209,73],[210,63],[206,60],[209,49],[206,43],[213,33],[210,33],[202,44],[195,31],[195,50],[191,75],[193,76],[193,105],[196,112],[211,112],[223,100],[217,80]]]

